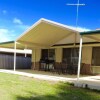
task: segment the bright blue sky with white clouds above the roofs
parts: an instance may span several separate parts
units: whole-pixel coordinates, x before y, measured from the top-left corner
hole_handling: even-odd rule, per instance
[[[40,18],[76,27],[77,0],[0,0],[0,42],[13,41]],[[100,0],[80,0],[78,29],[100,28]]]

